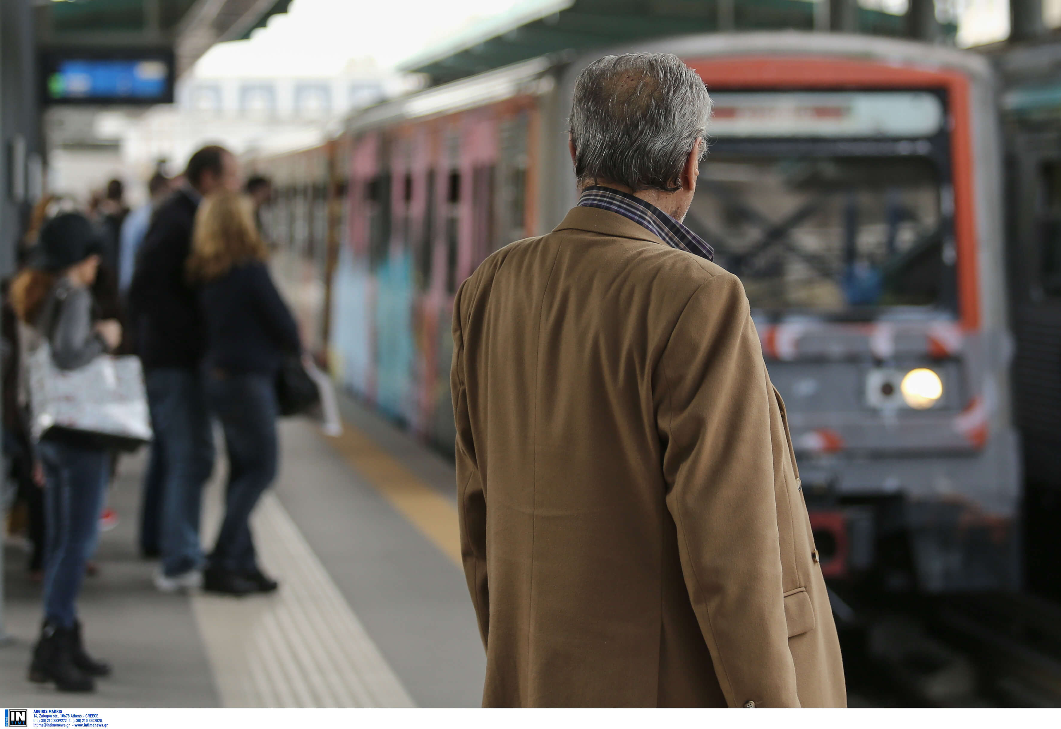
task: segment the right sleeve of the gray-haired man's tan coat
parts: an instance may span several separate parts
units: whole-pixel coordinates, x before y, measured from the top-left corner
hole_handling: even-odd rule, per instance
[[[740,280],[690,298],[655,385],[685,585],[731,707],[797,707],[765,364]]]

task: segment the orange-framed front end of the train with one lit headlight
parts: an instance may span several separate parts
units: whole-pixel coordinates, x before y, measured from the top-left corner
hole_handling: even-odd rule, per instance
[[[990,76],[958,51],[817,38],[682,53],[714,99],[685,222],[747,290],[825,576],[1014,588]]]

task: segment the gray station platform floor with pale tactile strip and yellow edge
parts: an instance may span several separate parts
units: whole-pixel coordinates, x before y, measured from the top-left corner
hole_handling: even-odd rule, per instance
[[[255,511],[272,595],[162,594],[136,545],[146,452],[123,457],[80,600],[90,653],[115,665],[97,693],[27,680],[40,586],[24,549],[4,544],[4,704],[92,707],[474,707],[485,656],[459,567],[453,465],[344,399],[332,438],[281,421],[281,470]],[[222,449],[223,452],[223,449]],[[224,464],[208,487],[202,533],[222,514]],[[76,698],[75,698],[76,696]]]

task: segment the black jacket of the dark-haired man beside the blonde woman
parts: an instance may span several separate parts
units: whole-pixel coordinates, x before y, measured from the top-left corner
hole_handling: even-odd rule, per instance
[[[137,254],[129,285],[129,323],[145,369],[197,367],[205,330],[185,262],[198,202],[177,190],[155,212]]]

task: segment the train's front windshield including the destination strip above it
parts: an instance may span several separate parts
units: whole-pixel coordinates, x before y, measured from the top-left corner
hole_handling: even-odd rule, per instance
[[[778,318],[955,313],[941,93],[713,94],[685,223]]]

